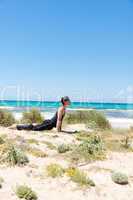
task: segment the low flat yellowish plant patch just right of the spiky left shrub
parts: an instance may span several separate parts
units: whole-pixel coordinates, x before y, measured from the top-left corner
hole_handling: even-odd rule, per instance
[[[28,147],[27,153],[31,154],[32,156],[40,157],[40,158],[47,157],[47,154],[45,152],[43,152],[42,150],[37,149],[37,148]]]

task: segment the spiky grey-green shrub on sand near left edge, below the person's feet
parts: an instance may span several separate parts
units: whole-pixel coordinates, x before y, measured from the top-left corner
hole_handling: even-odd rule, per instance
[[[10,165],[26,165],[29,160],[23,151],[13,145],[9,145],[5,151],[4,161]]]

